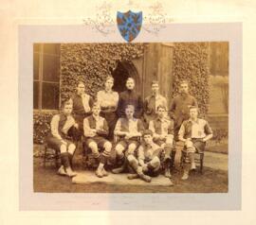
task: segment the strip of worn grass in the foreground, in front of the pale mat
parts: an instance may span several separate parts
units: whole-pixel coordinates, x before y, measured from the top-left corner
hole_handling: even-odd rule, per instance
[[[34,191],[48,193],[225,193],[228,192],[228,171],[204,168],[201,175],[194,171],[188,181],[180,180],[182,174],[173,173],[174,186],[110,185],[105,183],[74,184],[71,179],[56,174],[54,166],[46,168],[41,158],[34,159]]]

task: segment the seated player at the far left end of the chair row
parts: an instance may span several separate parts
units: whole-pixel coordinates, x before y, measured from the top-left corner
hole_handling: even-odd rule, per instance
[[[60,150],[62,165],[58,170],[58,174],[74,177],[77,174],[73,172],[70,163],[73,158],[76,146],[72,143],[67,132],[71,127],[78,128],[74,118],[71,115],[72,105],[68,102],[64,103],[63,112],[53,115],[50,122],[50,133],[46,137],[48,147]]]

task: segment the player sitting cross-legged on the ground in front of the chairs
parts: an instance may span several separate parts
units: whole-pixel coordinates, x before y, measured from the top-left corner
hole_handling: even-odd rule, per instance
[[[128,179],[140,178],[145,182],[151,182],[151,177],[159,175],[160,157],[162,148],[153,142],[153,132],[145,130],[143,132],[143,142],[137,148],[137,158],[135,155],[128,155],[128,164],[136,174],[128,175]]]

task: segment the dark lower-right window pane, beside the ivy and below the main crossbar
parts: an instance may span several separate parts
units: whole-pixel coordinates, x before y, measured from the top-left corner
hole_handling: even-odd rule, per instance
[[[44,83],[42,93],[42,109],[58,110],[59,109],[59,83]]]

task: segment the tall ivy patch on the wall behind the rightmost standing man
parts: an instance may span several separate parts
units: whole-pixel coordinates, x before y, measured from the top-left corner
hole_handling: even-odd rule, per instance
[[[190,82],[190,93],[198,101],[200,114],[205,115],[209,104],[209,43],[174,44],[174,95],[179,80]]]

